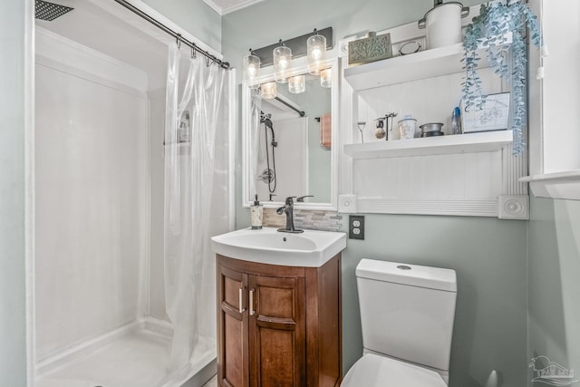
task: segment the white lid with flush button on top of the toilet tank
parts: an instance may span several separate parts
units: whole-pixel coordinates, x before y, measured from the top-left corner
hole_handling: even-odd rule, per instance
[[[455,270],[362,258],[356,276],[394,284],[457,292]]]

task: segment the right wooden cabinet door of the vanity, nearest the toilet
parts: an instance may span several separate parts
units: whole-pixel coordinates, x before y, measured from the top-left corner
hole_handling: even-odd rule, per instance
[[[304,277],[249,276],[250,386],[305,381]]]

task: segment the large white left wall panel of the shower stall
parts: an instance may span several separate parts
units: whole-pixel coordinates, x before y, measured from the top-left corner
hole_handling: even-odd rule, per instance
[[[36,36],[35,314],[42,360],[145,314],[149,136],[146,73],[40,28]],[[107,79],[107,70],[131,73],[134,82]]]

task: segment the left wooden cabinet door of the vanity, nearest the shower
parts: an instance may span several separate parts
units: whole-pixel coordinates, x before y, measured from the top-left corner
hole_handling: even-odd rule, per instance
[[[218,381],[247,387],[247,275],[218,266]]]

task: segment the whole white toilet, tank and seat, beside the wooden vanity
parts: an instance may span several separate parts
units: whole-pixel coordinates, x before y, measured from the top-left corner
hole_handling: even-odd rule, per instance
[[[362,259],[356,266],[363,355],[343,387],[447,387],[454,270]]]

